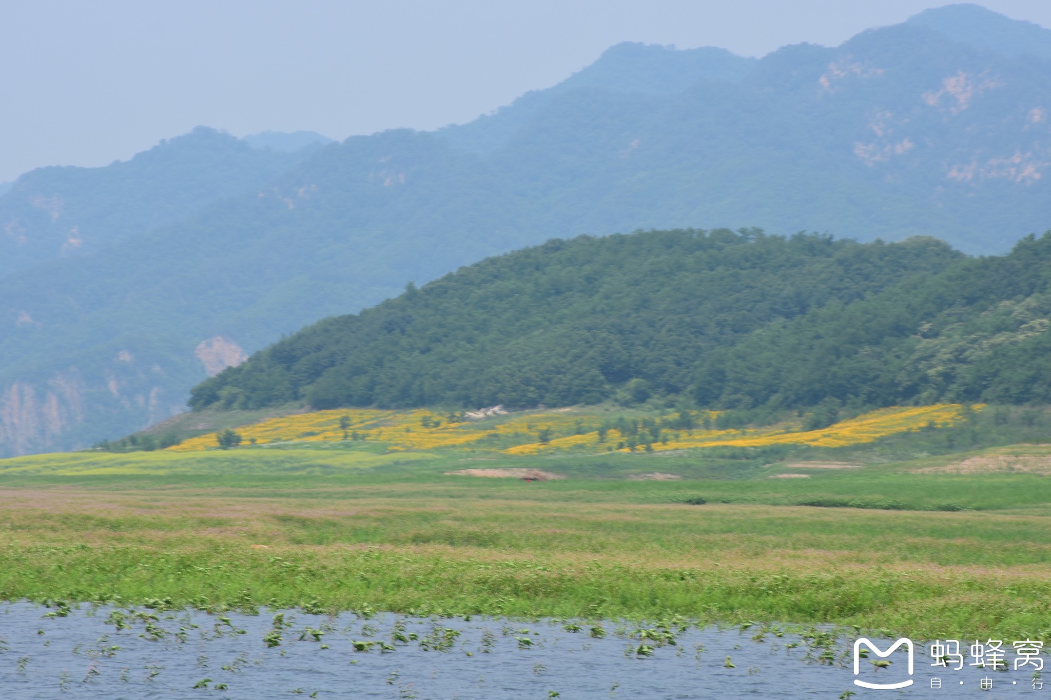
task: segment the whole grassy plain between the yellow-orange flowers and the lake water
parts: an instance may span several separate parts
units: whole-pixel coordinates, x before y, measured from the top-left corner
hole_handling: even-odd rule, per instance
[[[302,440],[5,460],[0,598],[1051,636],[1051,446],[975,448],[1038,425],[968,421],[796,452]],[[509,468],[562,478],[454,473]]]

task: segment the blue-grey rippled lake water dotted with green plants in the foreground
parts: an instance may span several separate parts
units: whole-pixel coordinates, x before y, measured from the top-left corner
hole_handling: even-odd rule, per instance
[[[46,616],[51,613],[57,615]],[[926,649],[919,644],[912,686],[866,690],[853,685],[852,639],[840,637],[834,644],[821,645],[812,638],[758,625],[743,631],[673,627],[668,637],[659,628],[606,621],[600,625],[605,636],[596,638],[591,636],[592,625],[582,621],[577,622],[579,631],[572,631],[572,623],[566,630],[568,622],[555,620],[391,614],[366,619],[351,613],[327,617],[302,611],[284,611],[282,616],[275,624],[273,612],[210,615],[3,603],[0,698],[837,698],[845,691],[857,693],[857,698],[998,698],[1051,694],[1051,683],[1034,692],[1031,667],[1007,673],[966,665],[963,671],[937,670],[942,686],[931,688],[935,674]],[[651,631],[640,633],[640,629]],[[757,631],[762,632],[760,638],[753,639]],[[280,643],[275,634],[281,636]],[[267,644],[267,635],[276,645]],[[645,636],[652,638],[640,638]],[[879,641],[883,648],[888,644]],[[355,651],[355,642],[360,651]],[[640,644],[650,649],[640,650]],[[832,663],[818,661],[823,653]],[[727,656],[733,667],[727,665]],[[886,670],[863,660],[858,678],[872,682],[909,678],[904,652],[890,658],[893,662]],[[980,690],[982,678],[991,680],[991,692]]]

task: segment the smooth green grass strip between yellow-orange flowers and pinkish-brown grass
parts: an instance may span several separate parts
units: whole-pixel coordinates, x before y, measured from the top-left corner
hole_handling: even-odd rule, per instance
[[[611,453],[593,457],[487,457],[383,453],[372,446],[239,449],[208,452],[74,452],[0,462],[0,487],[78,489],[207,488],[214,494],[282,497],[327,489],[339,499],[384,489],[390,497],[524,500],[571,503],[687,505],[774,505],[850,507],[877,510],[1000,511],[1051,513],[1051,479],[1038,473],[914,473],[968,457],[998,454],[1005,448],[928,457],[859,468],[809,467],[807,462],[761,465],[754,459],[676,454]],[[1051,460],[1051,447],[1007,448]],[[825,464],[815,461],[813,464]],[[461,469],[530,467],[569,479],[522,483],[517,479],[478,479],[450,474]],[[693,479],[651,481],[652,473],[691,473]],[[804,475],[781,479],[784,473]],[[636,479],[633,479],[636,476]],[[322,497],[318,495],[317,497]]]

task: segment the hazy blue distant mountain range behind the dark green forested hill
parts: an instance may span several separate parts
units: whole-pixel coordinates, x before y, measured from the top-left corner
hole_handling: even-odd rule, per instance
[[[552,237],[757,226],[1005,252],[1051,227],[1051,30],[976,5],[762,59],[612,47],[490,115],[208,129],[0,194],[0,450],[161,420],[282,334]]]

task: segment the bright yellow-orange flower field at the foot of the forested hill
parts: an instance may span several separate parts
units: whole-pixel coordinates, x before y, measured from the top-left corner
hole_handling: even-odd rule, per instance
[[[844,447],[929,425],[950,426],[961,419],[963,411],[961,404],[881,408],[820,430],[802,430],[798,425],[692,431],[662,427],[660,438],[651,443],[651,449],[770,445]],[[716,416],[707,411],[705,415],[709,419]],[[341,422],[346,428],[341,427]],[[585,411],[524,411],[472,422],[456,415],[444,416],[429,409],[339,408],[269,419],[242,426],[236,431],[242,436],[242,445],[350,440],[378,444],[389,451],[458,448],[499,450],[506,454],[522,455],[563,450],[595,452],[632,449],[626,446],[632,444],[627,436],[616,428],[609,428],[600,438],[599,428],[603,422],[603,417]],[[545,442],[541,442],[541,437]],[[212,432],[191,438],[168,449],[183,452],[217,448],[217,436]],[[639,448],[641,443],[635,446],[635,449]]]

